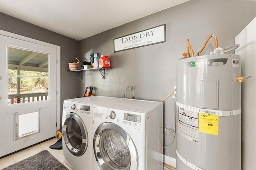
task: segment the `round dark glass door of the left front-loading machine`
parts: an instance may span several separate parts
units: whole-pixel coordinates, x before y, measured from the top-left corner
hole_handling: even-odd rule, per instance
[[[88,147],[88,133],[82,119],[76,113],[68,113],[63,125],[64,142],[74,156],[81,156]]]

